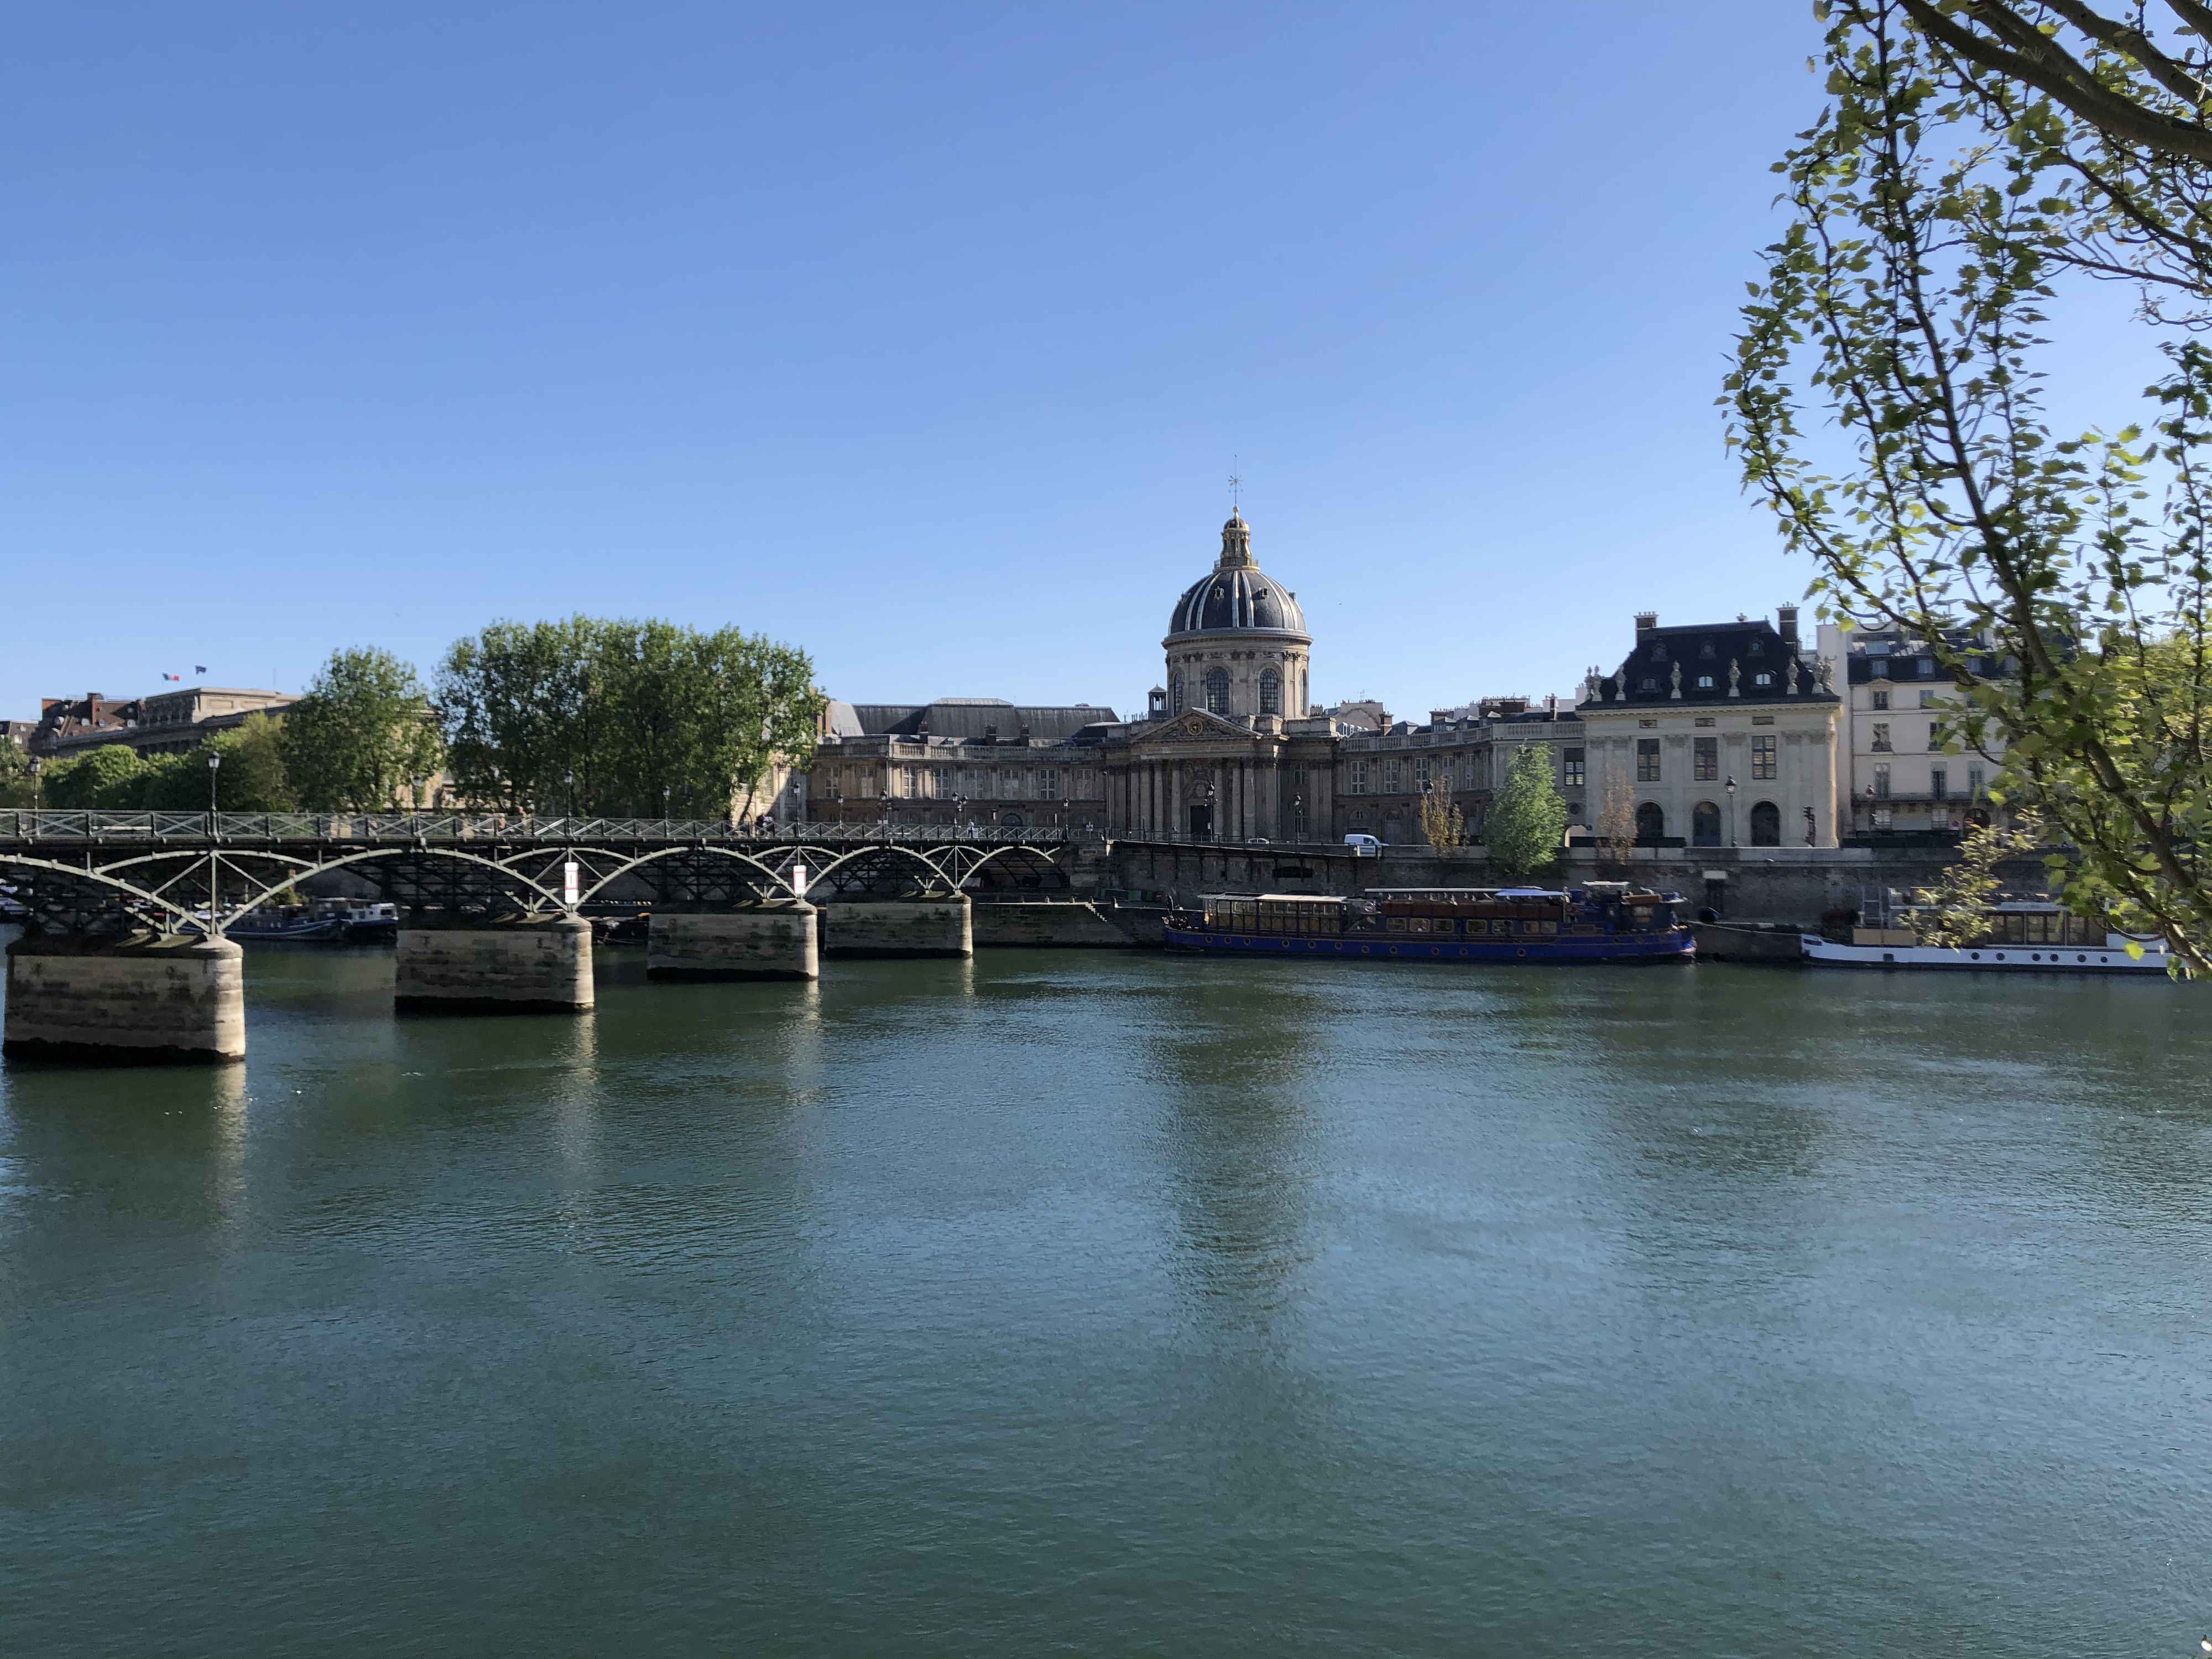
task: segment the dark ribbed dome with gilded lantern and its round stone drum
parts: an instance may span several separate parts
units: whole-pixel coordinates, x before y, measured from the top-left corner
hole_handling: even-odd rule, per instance
[[[1168,681],[1155,714],[1199,708],[1221,719],[1254,714],[1298,719],[1307,712],[1307,653],[1298,595],[1252,560],[1252,526],[1230,513],[1221,557],[1175,602],[1168,637]]]

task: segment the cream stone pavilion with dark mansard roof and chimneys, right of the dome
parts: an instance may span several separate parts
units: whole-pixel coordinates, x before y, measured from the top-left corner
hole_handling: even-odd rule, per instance
[[[1834,847],[1838,708],[1796,606],[1692,628],[1644,613],[1628,659],[1584,681],[1590,812],[1621,803],[1646,845]]]

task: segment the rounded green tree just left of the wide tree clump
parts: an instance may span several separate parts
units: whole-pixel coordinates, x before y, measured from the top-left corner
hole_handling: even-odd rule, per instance
[[[285,710],[285,776],[310,812],[389,812],[438,770],[445,745],[414,668],[387,650],[334,650]]]

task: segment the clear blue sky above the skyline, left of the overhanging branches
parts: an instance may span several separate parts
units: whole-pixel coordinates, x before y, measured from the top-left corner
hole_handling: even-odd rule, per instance
[[[568,611],[1128,712],[1232,465],[1318,697],[1566,692],[1639,608],[1805,588],[1712,400],[1814,42],[1792,0],[0,7],[0,714]]]

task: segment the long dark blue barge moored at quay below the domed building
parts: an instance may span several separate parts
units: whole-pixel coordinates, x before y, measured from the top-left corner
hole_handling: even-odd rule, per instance
[[[1398,958],[1413,962],[1688,962],[1697,940],[1681,894],[1588,887],[1369,887],[1214,896],[1168,916],[1170,951]]]

